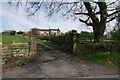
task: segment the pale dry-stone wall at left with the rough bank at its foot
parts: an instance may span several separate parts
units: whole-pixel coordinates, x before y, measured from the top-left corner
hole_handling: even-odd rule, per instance
[[[26,63],[29,53],[28,44],[2,44],[3,68]]]

